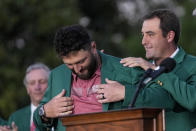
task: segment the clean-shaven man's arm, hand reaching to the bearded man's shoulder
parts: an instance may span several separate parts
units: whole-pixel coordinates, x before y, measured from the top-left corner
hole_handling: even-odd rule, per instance
[[[190,61],[193,61],[193,59]],[[188,62],[191,65],[183,62],[185,65],[182,64],[183,68],[176,71],[177,75],[171,72],[162,74],[157,79],[163,83],[162,88],[168,91],[178,104],[190,111],[194,111],[196,109],[196,73],[194,70],[195,64],[190,61]],[[142,58],[128,57],[122,59],[121,63],[129,67],[139,66],[144,70],[147,68],[154,69],[150,65],[151,63],[142,60]],[[182,74],[178,74],[178,72]]]

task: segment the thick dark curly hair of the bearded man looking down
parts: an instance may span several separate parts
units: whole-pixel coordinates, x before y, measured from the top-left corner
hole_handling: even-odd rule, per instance
[[[80,25],[60,28],[55,35],[54,44],[57,54],[66,56],[72,51],[91,48],[91,40],[86,29]]]

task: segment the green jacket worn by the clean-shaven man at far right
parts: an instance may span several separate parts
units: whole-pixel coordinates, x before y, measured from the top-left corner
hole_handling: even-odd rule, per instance
[[[164,83],[163,88],[177,102],[176,112],[171,113],[171,117],[166,119],[166,124],[178,124],[178,131],[190,131],[196,127],[196,57],[186,54],[180,48],[174,59],[176,68],[171,73],[159,77]]]

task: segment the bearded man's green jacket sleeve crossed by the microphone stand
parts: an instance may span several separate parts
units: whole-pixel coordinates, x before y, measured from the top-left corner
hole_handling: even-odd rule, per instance
[[[137,86],[135,85],[125,85],[124,108],[130,107],[136,89]],[[134,107],[155,107],[172,110],[175,107],[175,101],[167,91],[162,89],[155,81],[152,81],[140,90]]]

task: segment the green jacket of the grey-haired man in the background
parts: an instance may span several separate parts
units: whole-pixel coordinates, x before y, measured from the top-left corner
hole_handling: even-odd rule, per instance
[[[26,106],[14,112],[8,120],[11,126],[12,121],[18,126],[18,131],[30,131],[31,106]]]

